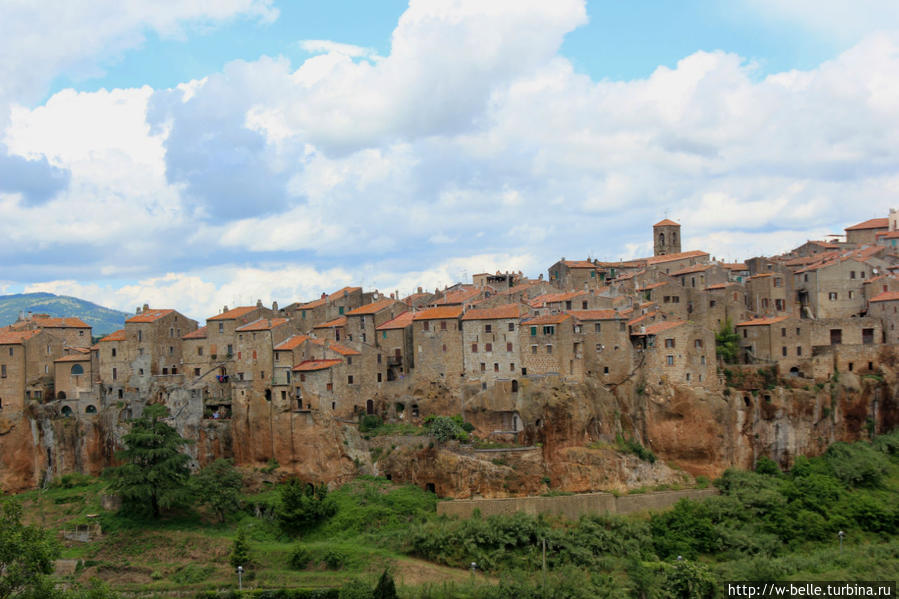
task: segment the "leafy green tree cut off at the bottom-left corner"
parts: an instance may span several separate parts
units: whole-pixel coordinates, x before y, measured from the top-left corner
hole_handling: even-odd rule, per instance
[[[47,588],[45,576],[53,572],[59,552],[50,533],[22,524],[22,506],[13,501],[0,504],[0,599],[26,597]]]

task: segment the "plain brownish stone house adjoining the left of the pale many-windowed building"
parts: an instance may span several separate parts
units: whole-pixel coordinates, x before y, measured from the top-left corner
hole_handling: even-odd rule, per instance
[[[415,376],[421,381],[461,382],[462,306],[441,306],[416,312],[412,317]]]

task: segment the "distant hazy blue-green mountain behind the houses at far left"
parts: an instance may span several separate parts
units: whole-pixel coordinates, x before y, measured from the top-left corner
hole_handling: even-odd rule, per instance
[[[132,316],[93,302],[55,295],[53,293],[17,293],[0,295],[0,326],[14,323],[20,313],[49,314],[50,316],[77,316],[93,327],[95,337],[108,335],[121,329],[125,319]]]

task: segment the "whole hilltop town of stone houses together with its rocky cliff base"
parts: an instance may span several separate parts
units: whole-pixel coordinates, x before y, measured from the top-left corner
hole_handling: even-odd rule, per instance
[[[562,258],[545,278],[481,273],[408,297],[345,287],[283,307],[225,306],[203,326],[175,307],[144,305],[96,343],[79,318],[24,314],[0,330],[0,484],[16,490],[68,471],[99,472],[148,403],[169,408],[175,426],[196,441],[189,451],[199,465],[223,456],[244,466],[276,461],[328,481],[354,475],[361,460],[363,470],[422,485],[429,476],[429,488],[457,496],[532,492],[533,480],[601,486],[591,474],[603,468],[598,462],[566,454],[578,474],[553,470],[561,458],[548,448],[583,448],[615,434],[695,474],[760,453],[789,460],[794,451],[899,420],[888,394],[859,382],[882,380],[895,365],[899,213],[849,226],[845,237],[740,263],[684,251],[672,220],[653,225],[652,236],[653,256],[642,259]],[[733,366],[716,351],[716,334],[731,326]],[[762,371],[776,382],[744,385],[743,393],[731,380]],[[860,414],[841,412],[832,399],[808,399],[813,414],[787,405],[789,394],[812,398],[813,386],[835,372],[848,392],[864,395]],[[779,424],[760,441],[766,418],[758,411],[768,409],[775,387],[773,404],[784,406],[769,415]],[[571,404],[553,411],[547,397],[566,394],[592,398],[585,405],[618,402],[617,420],[611,408],[577,417]],[[668,424],[653,425],[650,411],[667,401],[670,412],[670,402],[684,397],[707,411],[682,406],[680,424],[666,412]],[[640,398],[661,399],[647,407],[634,403]],[[713,401],[727,407],[708,407]],[[756,420],[735,416],[741,410],[754,410]],[[483,440],[542,448],[539,472],[498,491],[478,478],[489,475],[473,474],[483,470],[476,457],[431,456],[425,467],[410,449],[405,461],[400,451],[378,461],[354,428],[363,415],[416,425],[431,414],[458,414]],[[689,421],[703,414],[714,414],[709,419],[723,431],[714,435],[725,440],[704,442],[697,453],[689,449],[697,442]],[[749,440],[738,447],[727,431]],[[730,449],[709,454],[718,446]],[[467,478],[450,481],[446,469]]]

